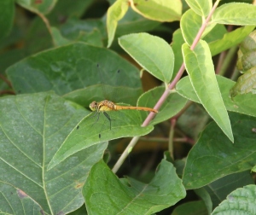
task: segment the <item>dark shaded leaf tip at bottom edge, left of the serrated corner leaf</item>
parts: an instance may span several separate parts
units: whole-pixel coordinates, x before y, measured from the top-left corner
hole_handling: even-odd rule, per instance
[[[203,215],[207,214],[207,208],[202,200],[189,201],[175,207],[172,215]]]

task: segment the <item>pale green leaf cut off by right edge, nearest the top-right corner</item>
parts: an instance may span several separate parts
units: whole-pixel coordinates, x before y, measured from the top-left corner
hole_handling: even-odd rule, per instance
[[[224,25],[254,26],[256,6],[249,3],[226,3],[218,7],[212,22]]]

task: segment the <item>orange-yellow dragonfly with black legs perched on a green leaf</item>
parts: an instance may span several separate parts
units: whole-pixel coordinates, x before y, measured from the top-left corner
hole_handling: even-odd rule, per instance
[[[97,65],[97,67],[99,68],[99,65]],[[119,73],[119,71],[118,71]],[[103,113],[103,115],[108,119],[109,121],[109,128],[111,130],[111,121],[113,119],[111,119],[110,115],[108,114],[108,112],[110,111],[119,111],[119,110],[140,110],[140,111],[148,111],[148,112],[152,112],[152,113],[158,113],[158,110],[154,109],[154,108],[145,108],[145,107],[134,107],[134,106],[121,106],[121,105],[117,105],[114,102],[108,101],[108,100],[103,100],[102,102],[96,102],[93,101],[90,103],[90,110],[92,112],[95,112],[95,114],[93,114],[93,117],[97,116],[96,122],[99,120],[101,113]],[[99,134],[99,137],[101,138],[101,134]]]

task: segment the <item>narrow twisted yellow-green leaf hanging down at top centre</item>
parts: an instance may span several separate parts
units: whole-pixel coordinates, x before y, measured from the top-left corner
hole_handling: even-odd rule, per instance
[[[114,32],[116,30],[118,21],[121,20],[129,8],[126,0],[117,0],[110,8],[108,8],[107,15],[107,29],[108,29],[108,47],[113,42]]]

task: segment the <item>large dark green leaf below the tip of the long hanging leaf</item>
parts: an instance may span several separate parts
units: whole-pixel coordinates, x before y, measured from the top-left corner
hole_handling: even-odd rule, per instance
[[[229,139],[214,122],[207,125],[195,146],[190,150],[183,171],[186,189],[200,188],[220,177],[251,170],[256,162],[256,118],[230,113],[235,142]],[[228,160],[228,162],[227,162]]]

